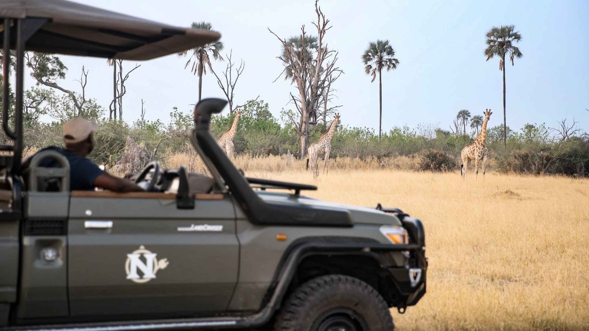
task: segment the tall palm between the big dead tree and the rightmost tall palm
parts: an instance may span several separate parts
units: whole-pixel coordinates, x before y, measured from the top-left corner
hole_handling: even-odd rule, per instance
[[[378,120],[378,140],[382,136],[382,69],[389,71],[396,69],[399,60],[394,58],[395,49],[389,45],[388,40],[377,40],[370,42],[368,48],[362,55],[362,62],[366,65],[364,69],[367,75],[372,75],[373,82],[378,73],[378,97],[379,97],[379,120]]]

